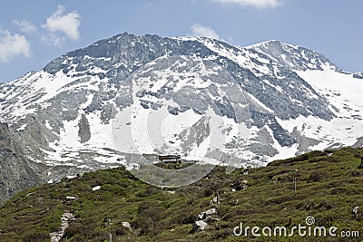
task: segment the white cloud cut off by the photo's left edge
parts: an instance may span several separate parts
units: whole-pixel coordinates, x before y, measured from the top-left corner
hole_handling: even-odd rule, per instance
[[[9,31],[0,31],[0,62],[8,63],[16,55],[30,57],[30,44],[21,34],[10,34]]]

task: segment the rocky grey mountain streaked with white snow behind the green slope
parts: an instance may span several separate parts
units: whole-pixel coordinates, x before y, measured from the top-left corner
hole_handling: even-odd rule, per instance
[[[0,121],[46,179],[134,154],[254,166],[358,145],[362,92],[362,74],[296,45],[125,33],[0,84]]]

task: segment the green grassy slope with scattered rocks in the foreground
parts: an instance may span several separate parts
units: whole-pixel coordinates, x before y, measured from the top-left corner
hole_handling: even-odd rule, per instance
[[[0,241],[50,241],[49,233],[60,226],[64,210],[75,220],[66,230],[68,241],[360,241],[360,239],[313,237],[233,237],[243,222],[253,226],[305,225],[358,230],[363,237],[363,218],[351,214],[363,207],[363,169],[358,169],[363,149],[334,151],[328,156],[314,151],[268,167],[237,169],[227,175],[214,169],[208,177],[180,189],[160,189],[134,179],[124,169],[106,169],[26,189],[0,208]],[[292,179],[297,177],[294,192]],[[231,183],[244,180],[247,189],[232,192]],[[101,186],[93,191],[94,186]],[[221,204],[210,204],[213,192],[221,190]],[[66,196],[76,196],[67,200]],[[191,223],[209,208],[217,208],[205,231],[190,234]],[[132,230],[122,226],[131,223]]]

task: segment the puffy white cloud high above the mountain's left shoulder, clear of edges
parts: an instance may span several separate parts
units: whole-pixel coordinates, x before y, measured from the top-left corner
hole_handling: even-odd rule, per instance
[[[58,45],[61,42],[64,42],[64,36],[58,36],[56,34],[61,33],[66,37],[72,40],[78,40],[80,37],[79,27],[81,25],[81,15],[79,15],[76,11],[73,11],[68,14],[64,14],[64,6],[58,5],[57,10],[53,15],[49,16],[46,19],[46,23],[42,25],[44,29],[49,31],[49,39],[46,36],[43,36],[42,39],[45,42],[53,42],[54,45]]]

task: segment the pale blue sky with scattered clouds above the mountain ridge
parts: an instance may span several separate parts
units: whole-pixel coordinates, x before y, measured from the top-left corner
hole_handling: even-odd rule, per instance
[[[0,9],[0,82],[123,32],[240,46],[276,39],[363,72],[361,0],[3,0]]]

